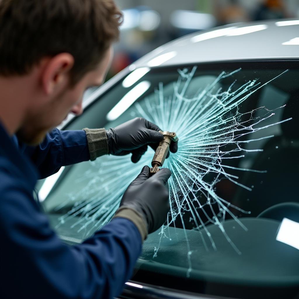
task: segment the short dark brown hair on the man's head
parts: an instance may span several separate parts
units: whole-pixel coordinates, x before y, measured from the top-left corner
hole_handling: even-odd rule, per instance
[[[0,0],[0,75],[23,75],[43,57],[74,57],[72,84],[118,39],[113,0]]]

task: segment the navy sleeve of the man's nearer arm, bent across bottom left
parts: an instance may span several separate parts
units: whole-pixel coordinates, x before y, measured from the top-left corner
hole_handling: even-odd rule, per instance
[[[141,236],[115,218],[77,246],[63,244],[21,180],[0,186],[3,298],[113,298],[130,278]],[[4,275],[5,273],[5,275]]]

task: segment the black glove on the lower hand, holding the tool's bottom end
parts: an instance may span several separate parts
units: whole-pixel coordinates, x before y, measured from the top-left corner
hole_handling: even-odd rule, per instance
[[[132,181],[120,202],[121,207],[137,211],[147,223],[148,233],[156,231],[165,222],[169,205],[168,179],[171,171],[161,168],[149,177],[149,167],[144,166]]]

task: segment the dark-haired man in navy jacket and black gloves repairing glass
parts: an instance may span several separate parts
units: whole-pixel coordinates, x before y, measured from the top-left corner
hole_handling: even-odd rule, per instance
[[[72,247],[33,198],[36,180],[61,166],[104,154],[137,162],[163,138],[142,118],[107,131],[53,129],[103,82],[120,22],[113,0],[0,0],[1,298],[113,298],[166,220],[166,168],[149,177],[143,167],[111,222]]]

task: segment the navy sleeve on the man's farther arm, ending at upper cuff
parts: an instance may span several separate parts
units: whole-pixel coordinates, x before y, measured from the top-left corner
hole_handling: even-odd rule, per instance
[[[39,170],[39,179],[51,176],[62,166],[90,159],[86,132],[83,130],[54,129],[38,146],[19,143],[19,147]]]

